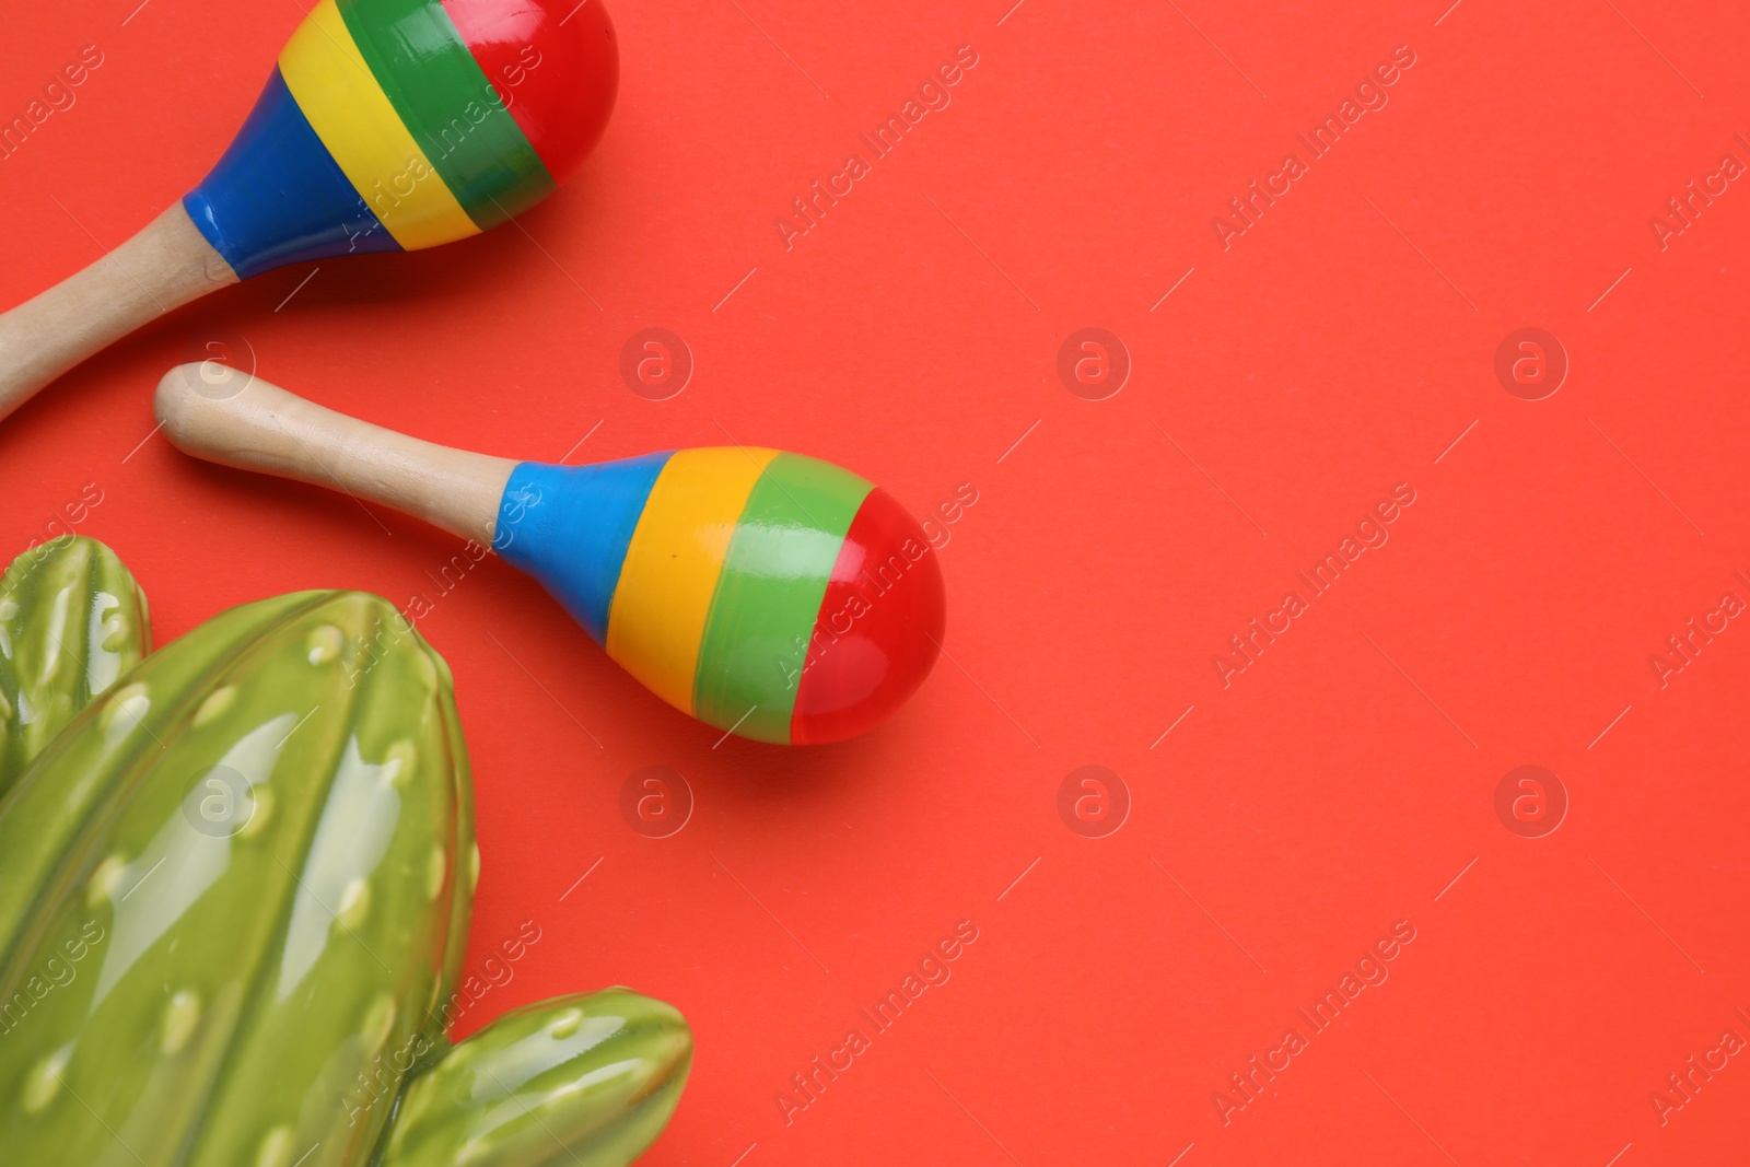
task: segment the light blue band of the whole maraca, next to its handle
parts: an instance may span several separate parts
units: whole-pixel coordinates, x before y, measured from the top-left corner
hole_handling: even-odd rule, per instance
[[[595,465],[523,462],[504,485],[494,549],[541,581],[597,644],[607,644],[626,546],[672,453]]]

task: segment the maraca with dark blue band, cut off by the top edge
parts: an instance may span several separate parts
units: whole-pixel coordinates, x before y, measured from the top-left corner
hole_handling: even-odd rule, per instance
[[[522,213],[602,136],[618,80],[602,0],[320,0],[194,191],[0,315],[0,418],[214,289]]]

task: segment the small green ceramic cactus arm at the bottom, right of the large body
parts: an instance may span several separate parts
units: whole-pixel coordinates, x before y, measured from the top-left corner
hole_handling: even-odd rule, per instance
[[[630,990],[525,1006],[410,1074],[371,1167],[626,1167],[691,1064],[686,1020]]]

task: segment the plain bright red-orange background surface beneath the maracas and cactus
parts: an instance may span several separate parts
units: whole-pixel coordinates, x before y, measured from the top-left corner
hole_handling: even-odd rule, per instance
[[[698,1060],[651,1164],[1736,1162],[1750,1060],[1664,1125],[1648,1094],[1750,1038],[1750,630],[1662,689],[1648,658],[1750,600],[1750,191],[1664,250],[1648,219],[1750,163],[1750,16],[1006,7],[621,0],[614,121],[527,234],[329,261],[289,301],[312,268],[278,271],[114,346],[0,427],[0,548],[96,483],[75,528],[159,642],[294,588],[432,597],[478,779],[471,961],[542,929],[464,1029],[602,983],[681,1006]],[[82,45],[105,63],[0,161],[0,301],[198,180],[301,19],[131,9],[5,17],[5,119]],[[952,105],[786,250],[775,217],[962,44]],[[1223,250],[1211,217],[1400,44],[1390,105]],[[1055,371],[1088,325],[1134,364],[1097,402]],[[1528,325],[1572,360],[1538,402],[1493,371]],[[621,383],[644,327],[696,360],[670,401]],[[208,339],[492,453],[600,422],[572,460],[772,444],[915,513],[971,483],[952,661],[863,740],[718,747],[506,565],[438,598],[453,539],[147,437]],[[1390,542],[1223,688],[1211,656],[1398,483]],[[696,796],[672,838],[618,810],[646,765]],[[1083,765],[1134,801],[1108,838],[1059,819]],[[1572,800],[1545,838],[1496,819],[1521,765]],[[786,1123],[789,1076],[957,920],[952,980]],[[1223,1125],[1228,1074],[1398,920],[1390,980]]]

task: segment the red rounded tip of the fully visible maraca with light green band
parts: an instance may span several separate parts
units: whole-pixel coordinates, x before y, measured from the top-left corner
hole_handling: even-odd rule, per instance
[[[816,616],[791,744],[842,742],[884,721],[929,675],[945,621],[934,549],[877,486],[845,532]]]

